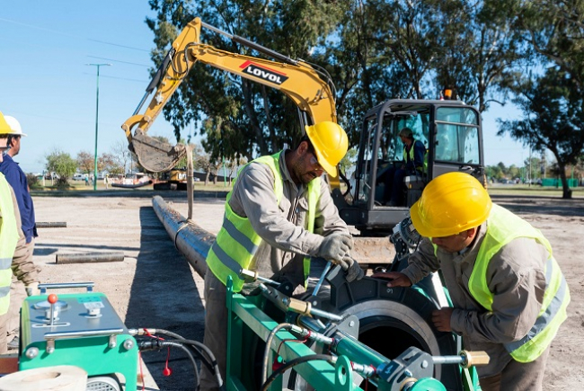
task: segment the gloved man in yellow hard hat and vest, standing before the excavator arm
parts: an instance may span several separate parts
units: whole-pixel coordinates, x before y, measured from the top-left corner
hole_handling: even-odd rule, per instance
[[[240,170],[227,195],[223,227],[207,256],[204,343],[216,355],[224,379],[228,276],[234,280],[234,291],[244,294],[257,283],[243,280],[242,270],[288,280],[303,289],[310,257],[340,264],[347,280],[363,276],[349,256],[353,243],[349,229],[321,179],[324,172],[337,175],[336,166],[347,153],[347,134],[331,121],[307,126],[305,131],[295,149],[261,156]],[[201,389],[217,389],[207,369]]]

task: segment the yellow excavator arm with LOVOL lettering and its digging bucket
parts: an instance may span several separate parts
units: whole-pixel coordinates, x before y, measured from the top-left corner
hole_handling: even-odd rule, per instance
[[[278,61],[243,56],[203,44],[200,42],[201,27],[226,35],[231,40]],[[173,147],[146,136],[146,132],[196,61],[280,90],[296,103],[298,109],[303,111],[312,123],[323,120],[337,121],[332,82],[323,80],[323,77],[329,79],[324,71],[319,72],[304,61],[285,57],[195,18],[174,40],[172,49],[146,88],[146,94],[134,115],[121,126],[126,132],[130,150],[137,155],[138,162],[148,171],[169,171],[185,155],[186,149],[181,144]],[[140,114],[139,111],[152,93],[154,96],[146,111]]]

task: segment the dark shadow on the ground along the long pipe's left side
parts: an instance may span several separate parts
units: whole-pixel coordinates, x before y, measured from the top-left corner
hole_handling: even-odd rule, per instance
[[[152,207],[140,209],[143,234],[137,255],[136,275],[130,290],[126,325],[154,327],[202,342],[204,307],[189,263],[174,248]],[[157,227],[157,228],[155,228]],[[152,235],[153,230],[163,235]],[[147,231],[147,233],[145,233]],[[163,370],[168,351],[145,351],[142,359],[161,390],[194,390],[190,360],[179,349],[170,351],[170,377]]]

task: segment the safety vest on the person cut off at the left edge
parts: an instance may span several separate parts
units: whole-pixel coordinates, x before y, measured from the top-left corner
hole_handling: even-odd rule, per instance
[[[0,173],[0,315],[8,312],[10,307],[10,283],[13,272],[10,266],[13,263],[14,250],[18,243],[18,226],[14,215],[13,196],[10,185],[3,173]]]

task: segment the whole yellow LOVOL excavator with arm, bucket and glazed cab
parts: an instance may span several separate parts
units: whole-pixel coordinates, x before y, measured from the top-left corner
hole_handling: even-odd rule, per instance
[[[275,60],[254,58],[216,49],[201,43],[201,28],[215,31],[235,42]],[[337,122],[335,88],[325,70],[303,60],[292,59],[250,40],[221,31],[195,18],[181,31],[164,58],[134,115],[122,125],[129,148],[138,162],[151,172],[168,172],[184,156],[186,148],[171,146],[150,138],[147,130],[162,111],[192,65],[200,61],[210,67],[268,85],[292,99],[300,112],[300,129],[323,120]],[[149,95],[154,97],[143,114]],[[363,116],[359,131],[355,170],[341,173],[346,191],[341,192],[339,178],[329,177],[332,198],[341,218],[356,227],[364,240],[356,240],[363,264],[385,263],[393,257],[386,237],[410,215],[411,205],[420,198],[425,185],[442,173],[460,171],[482,180],[482,123],[479,111],[444,93],[442,99],[391,99],[379,103]],[[423,173],[410,173],[403,181],[402,202],[387,205],[384,173],[403,164],[401,129],[409,128],[415,139],[426,146]],[[358,244],[358,242],[362,242]],[[356,257],[357,258],[357,257]]]

